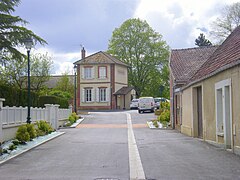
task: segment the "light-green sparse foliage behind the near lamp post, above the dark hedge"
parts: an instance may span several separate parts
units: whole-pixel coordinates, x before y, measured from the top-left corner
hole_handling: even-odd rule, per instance
[[[27,58],[15,59],[12,55],[6,57],[5,66],[0,66],[1,82],[15,86],[19,89],[26,88],[27,82]],[[44,82],[49,79],[52,60],[46,54],[31,55],[31,89],[39,91]]]

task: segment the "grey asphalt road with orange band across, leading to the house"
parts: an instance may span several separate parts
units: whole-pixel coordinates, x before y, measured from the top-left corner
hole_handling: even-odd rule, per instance
[[[240,179],[239,156],[175,130],[148,129],[146,121],[154,118],[137,111],[92,112],[79,128],[63,129],[64,135],[0,165],[0,179],[128,180],[139,166],[149,180]],[[134,153],[140,164],[129,163]]]

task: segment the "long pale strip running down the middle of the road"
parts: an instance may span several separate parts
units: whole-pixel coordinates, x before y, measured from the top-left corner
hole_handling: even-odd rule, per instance
[[[130,180],[144,180],[145,174],[141,158],[138,152],[137,143],[132,129],[131,115],[127,114],[128,124],[128,151],[129,151],[129,167],[130,167]]]

